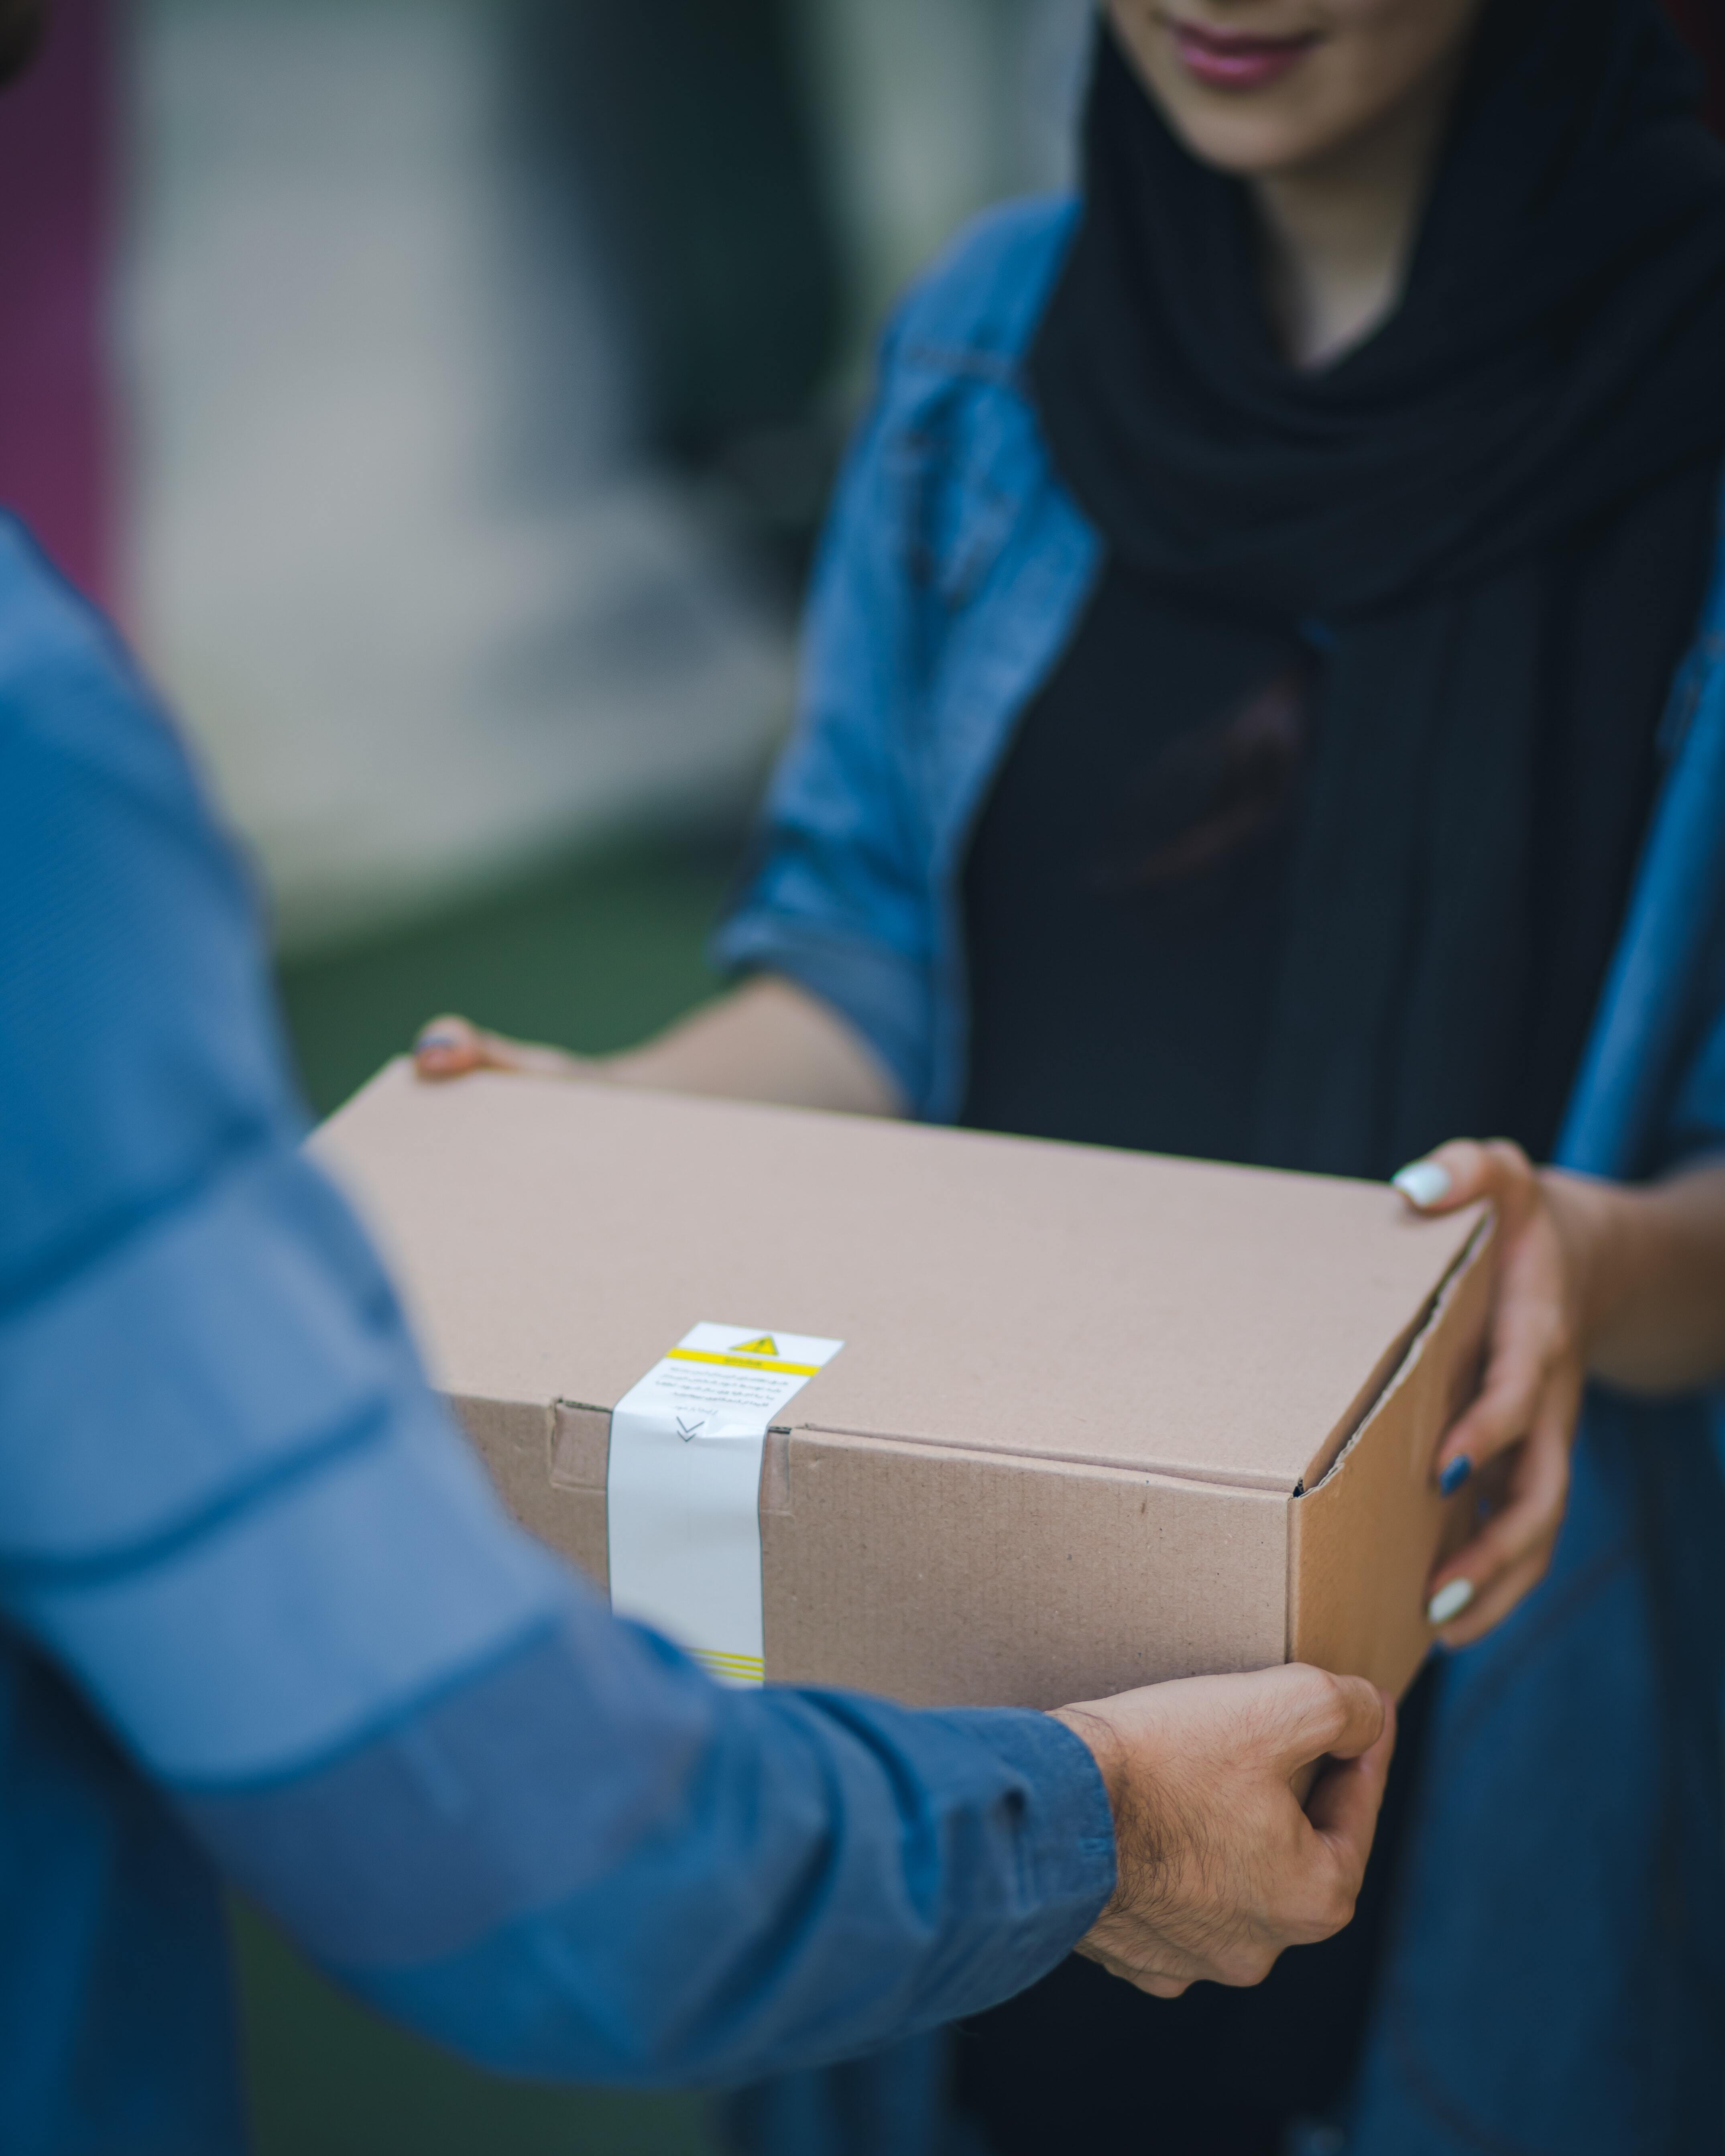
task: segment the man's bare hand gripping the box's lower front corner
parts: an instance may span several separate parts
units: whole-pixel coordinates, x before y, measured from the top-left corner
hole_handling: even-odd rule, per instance
[[[1158,1999],[1261,1984],[1283,1947],[1354,1915],[1395,1751],[1395,1705],[1365,1677],[1296,1662],[1054,1718],[1089,1744],[1115,1811],[1119,1878],[1078,1943],[1110,1975]]]

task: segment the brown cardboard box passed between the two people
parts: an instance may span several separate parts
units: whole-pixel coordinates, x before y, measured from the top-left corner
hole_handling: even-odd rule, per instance
[[[692,1324],[843,1352],[765,1440],[768,1677],[1048,1708],[1402,1690],[1466,1531],[1477,1214],[1374,1184],[392,1065],[315,1141],[522,1522],[606,1583],[610,1408]]]

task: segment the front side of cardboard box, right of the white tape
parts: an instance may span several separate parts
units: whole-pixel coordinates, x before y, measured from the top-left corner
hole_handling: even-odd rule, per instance
[[[1283,1660],[1285,1496],[802,1432],[787,1453],[774,1677],[1057,1708]]]

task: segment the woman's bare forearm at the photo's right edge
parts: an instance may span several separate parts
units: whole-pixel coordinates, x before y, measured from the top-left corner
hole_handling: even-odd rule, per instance
[[[1725,1376],[1725,1162],[1639,1186],[1544,1181],[1578,1253],[1589,1373],[1630,1393]]]

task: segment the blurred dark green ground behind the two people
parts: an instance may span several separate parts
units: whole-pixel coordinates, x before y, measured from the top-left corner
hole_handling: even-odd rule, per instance
[[[604,1052],[716,981],[703,944],[731,832],[625,839],[410,929],[282,966],[306,1093],[328,1115],[436,1011]],[[259,2156],[712,2156],[696,2098],[485,2081],[351,2005],[235,1910]]]

